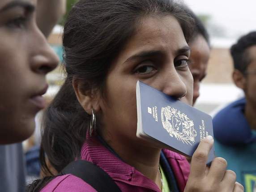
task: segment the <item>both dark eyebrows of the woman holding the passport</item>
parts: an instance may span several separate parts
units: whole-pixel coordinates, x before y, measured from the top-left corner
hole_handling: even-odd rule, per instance
[[[180,48],[179,50],[177,50],[175,52],[175,54],[181,55],[188,51],[190,51],[190,47],[184,46],[184,47]],[[164,54],[163,51],[159,51],[159,50],[141,51],[141,52],[137,53],[136,55],[132,55],[131,57],[129,57],[127,60],[124,61],[124,63],[127,63],[131,60],[143,59],[143,58],[147,58],[147,57],[154,57],[154,56],[163,55],[163,54]]]

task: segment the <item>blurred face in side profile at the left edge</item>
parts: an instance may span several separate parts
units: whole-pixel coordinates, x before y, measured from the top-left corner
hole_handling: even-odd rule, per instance
[[[46,74],[58,64],[35,22],[36,0],[0,1],[0,144],[23,141],[45,107]]]

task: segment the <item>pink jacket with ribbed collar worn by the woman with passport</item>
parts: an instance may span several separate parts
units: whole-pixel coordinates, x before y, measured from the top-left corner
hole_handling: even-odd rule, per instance
[[[167,161],[170,163],[179,191],[183,192],[189,175],[189,163],[182,155],[163,149]],[[81,158],[101,167],[114,179],[122,192],[160,192],[158,186],[149,178],[141,174],[134,167],[126,164],[97,138],[87,137],[81,149]],[[73,175],[58,176],[44,187],[41,192],[96,192],[89,184]]]

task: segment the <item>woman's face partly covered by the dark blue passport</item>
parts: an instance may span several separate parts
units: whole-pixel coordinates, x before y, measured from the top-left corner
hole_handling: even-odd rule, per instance
[[[98,103],[99,129],[110,145],[112,141],[136,145],[137,80],[192,105],[189,55],[183,31],[174,17],[142,19],[113,61],[104,87],[106,98]]]

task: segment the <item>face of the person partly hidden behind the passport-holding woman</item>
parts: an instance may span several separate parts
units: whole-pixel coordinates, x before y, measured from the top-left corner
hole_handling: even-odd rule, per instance
[[[194,79],[194,105],[196,99],[200,96],[200,83],[206,76],[207,65],[210,57],[210,47],[201,34],[197,35],[196,38],[189,43],[189,47],[191,48],[191,64],[189,65],[189,68]]]

